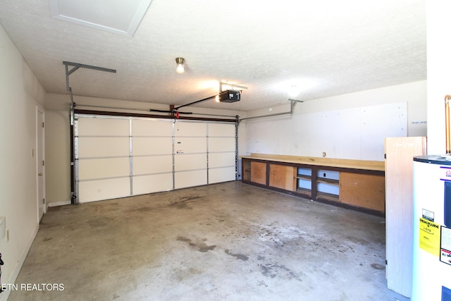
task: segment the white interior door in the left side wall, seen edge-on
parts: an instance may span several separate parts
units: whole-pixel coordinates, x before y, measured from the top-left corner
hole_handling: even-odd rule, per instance
[[[36,169],[37,169],[37,220],[45,213],[45,152],[44,152],[44,111],[36,108]]]

